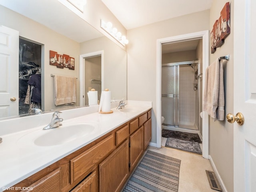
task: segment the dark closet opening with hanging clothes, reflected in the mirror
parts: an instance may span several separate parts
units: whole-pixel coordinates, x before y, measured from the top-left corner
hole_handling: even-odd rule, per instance
[[[19,38],[19,115],[41,109],[41,45]]]

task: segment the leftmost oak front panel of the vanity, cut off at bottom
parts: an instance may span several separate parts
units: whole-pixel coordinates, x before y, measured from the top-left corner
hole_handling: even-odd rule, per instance
[[[42,179],[34,182],[28,188],[33,188],[31,191],[36,192],[60,192],[61,184],[60,184],[61,176],[60,176],[60,168],[52,171],[48,175],[44,176]]]

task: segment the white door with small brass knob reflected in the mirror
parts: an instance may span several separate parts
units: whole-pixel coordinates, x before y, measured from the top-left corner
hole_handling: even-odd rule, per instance
[[[19,114],[18,68],[19,32],[0,25],[0,118]]]

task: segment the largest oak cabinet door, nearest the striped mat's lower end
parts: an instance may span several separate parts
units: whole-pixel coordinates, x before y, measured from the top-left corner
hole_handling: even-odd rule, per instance
[[[119,192],[129,174],[129,142],[126,140],[99,165],[100,192]]]

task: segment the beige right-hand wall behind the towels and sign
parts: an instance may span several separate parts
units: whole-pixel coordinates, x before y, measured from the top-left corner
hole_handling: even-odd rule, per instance
[[[226,0],[214,0],[210,9],[210,29],[220,17],[220,11],[226,4]],[[225,39],[225,43],[216,49],[214,54],[210,54],[210,63],[214,62],[220,56],[230,54],[230,60],[224,63],[224,91],[225,91],[225,116],[228,113],[234,113],[234,97],[233,97],[233,52],[234,52],[234,0],[230,1],[230,21],[231,29],[230,35]],[[209,136],[210,136],[210,155],[212,160],[226,186],[228,192],[234,191],[233,188],[233,124],[224,121],[213,122],[212,118],[209,118]]]

